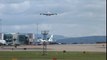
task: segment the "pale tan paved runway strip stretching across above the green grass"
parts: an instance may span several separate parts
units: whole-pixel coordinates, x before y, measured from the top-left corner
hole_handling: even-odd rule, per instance
[[[42,51],[42,45],[21,45],[3,46],[0,51]],[[106,52],[106,44],[66,44],[66,45],[47,45],[47,51],[88,51],[88,52]]]

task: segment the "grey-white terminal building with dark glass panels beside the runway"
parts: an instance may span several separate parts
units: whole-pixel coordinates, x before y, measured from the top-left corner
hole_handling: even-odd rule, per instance
[[[5,40],[7,45],[32,45],[35,36],[33,33],[0,33],[0,40]]]

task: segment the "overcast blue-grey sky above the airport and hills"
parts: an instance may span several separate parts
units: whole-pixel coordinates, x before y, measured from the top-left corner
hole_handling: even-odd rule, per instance
[[[67,37],[106,35],[106,0],[0,0],[2,32]],[[57,13],[44,16],[40,13]],[[1,28],[1,26],[0,26]]]

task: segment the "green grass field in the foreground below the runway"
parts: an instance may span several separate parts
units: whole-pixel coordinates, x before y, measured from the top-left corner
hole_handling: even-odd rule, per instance
[[[106,60],[103,52],[48,52],[43,56],[38,51],[0,51],[0,60]]]

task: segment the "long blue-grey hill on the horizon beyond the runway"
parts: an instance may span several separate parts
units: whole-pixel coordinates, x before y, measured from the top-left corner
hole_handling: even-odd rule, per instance
[[[87,37],[72,37],[59,39],[56,42],[58,43],[67,43],[67,44],[84,44],[84,43],[97,43],[97,42],[106,42],[106,36],[87,36]]]

